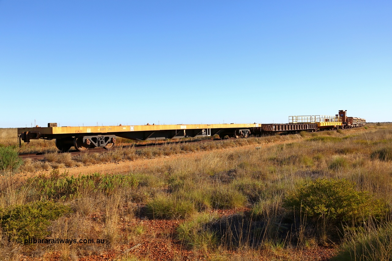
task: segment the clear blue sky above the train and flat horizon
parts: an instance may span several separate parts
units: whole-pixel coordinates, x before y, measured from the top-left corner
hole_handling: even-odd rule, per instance
[[[0,0],[0,127],[392,121],[392,1]]]

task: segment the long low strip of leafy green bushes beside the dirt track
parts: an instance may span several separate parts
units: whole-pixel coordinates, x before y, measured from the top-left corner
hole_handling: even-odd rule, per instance
[[[38,176],[27,179],[24,189],[32,195],[45,199],[75,198],[80,193],[103,192],[111,194],[116,188],[136,187],[138,180],[132,174],[102,175],[94,173],[79,177],[59,175],[58,170],[52,170],[51,176]]]

